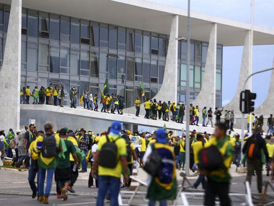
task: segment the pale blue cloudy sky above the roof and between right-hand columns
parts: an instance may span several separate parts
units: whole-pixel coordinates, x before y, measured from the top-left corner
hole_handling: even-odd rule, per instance
[[[187,0],[147,0],[159,4],[187,9]],[[251,22],[250,0],[191,0],[190,9],[205,14],[220,16],[246,23]],[[254,1],[254,24],[274,29],[274,1]],[[274,43],[274,42],[273,42]],[[234,97],[237,90],[243,46],[223,47],[222,105]],[[253,72],[272,67],[274,45],[254,46]],[[253,77],[253,92],[257,93],[255,106],[263,103],[270,82],[270,72]]]

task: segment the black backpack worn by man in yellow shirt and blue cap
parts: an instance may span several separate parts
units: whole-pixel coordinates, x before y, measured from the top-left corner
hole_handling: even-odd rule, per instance
[[[106,136],[107,142],[103,144],[99,155],[99,165],[102,167],[114,168],[117,165],[117,146],[115,141],[119,138],[116,138],[113,142],[110,142],[108,135]]]

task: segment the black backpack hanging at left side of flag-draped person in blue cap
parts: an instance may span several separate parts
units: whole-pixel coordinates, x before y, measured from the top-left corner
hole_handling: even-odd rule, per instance
[[[162,157],[158,154],[157,150],[154,147],[154,144],[151,144],[152,152],[149,155],[145,166],[143,169],[150,175],[156,176],[159,174],[162,164]]]

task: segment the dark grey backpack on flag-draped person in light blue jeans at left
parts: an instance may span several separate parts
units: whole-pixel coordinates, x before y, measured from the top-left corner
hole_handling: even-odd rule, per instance
[[[54,135],[44,135],[42,144],[42,156],[43,157],[54,157],[57,155],[57,145]]]

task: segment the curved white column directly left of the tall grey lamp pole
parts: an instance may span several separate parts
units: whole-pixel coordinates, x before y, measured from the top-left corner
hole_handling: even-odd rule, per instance
[[[169,34],[169,46],[166,55],[166,65],[164,72],[164,79],[161,89],[158,91],[155,97],[157,101],[177,101],[177,67],[178,67],[178,15],[172,16],[171,28]],[[123,110],[125,113],[135,114],[136,108],[129,107]],[[140,115],[145,115],[144,104],[141,104]]]

